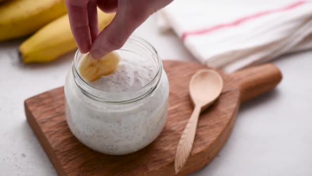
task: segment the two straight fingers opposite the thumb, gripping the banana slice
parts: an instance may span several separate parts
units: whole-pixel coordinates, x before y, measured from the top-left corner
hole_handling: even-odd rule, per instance
[[[95,40],[97,13],[95,0],[66,0],[71,31],[81,52],[90,50],[92,38]]]

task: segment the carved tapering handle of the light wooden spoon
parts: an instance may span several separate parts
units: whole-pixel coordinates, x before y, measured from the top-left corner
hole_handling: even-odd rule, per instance
[[[201,107],[196,105],[181,135],[174,160],[174,170],[176,174],[182,169],[191,152],[200,112]]]

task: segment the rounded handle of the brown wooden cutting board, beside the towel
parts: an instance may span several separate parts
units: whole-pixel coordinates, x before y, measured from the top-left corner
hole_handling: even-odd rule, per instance
[[[242,69],[230,77],[239,87],[241,102],[245,102],[274,89],[282,80],[282,73],[275,65],[263,64]]]

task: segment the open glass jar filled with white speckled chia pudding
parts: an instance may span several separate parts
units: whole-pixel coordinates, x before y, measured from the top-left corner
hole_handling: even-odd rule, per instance
[[[65,105],[67,124],[81,143],[120,155],[140,150],[159,136],[167,118],[169,83],[157,51],[147,41],[131,37],[116,52],[122,58],[120,67],[102,77],[104,86],[80,76],[77,68],[84,55],[77,50],[66,77]]]

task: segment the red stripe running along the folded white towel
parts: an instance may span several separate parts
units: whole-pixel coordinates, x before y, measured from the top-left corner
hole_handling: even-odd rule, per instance
[[[290,9],[294,9],[296,7],[299,7],[303,4],[305,4],[305,3],[308,3],[308,1],[299,1],[297,3],[290,4],[290,5],[283,7],[283,8],[258,12],[258,13],[253,14],[253,15],[242,17],[241,19],[235,20],[235,21],[230,22],[230,23],[219,24],[216,26],[212,26],[212,27],[208,27],[208,28],[204,28],[204,29],[200,29],[200,30],[195,30],[195,31],[187,31],[187,32],[182,33],[181,39],[182,39],[182,41],[184,41],[187,36],[198,36],[198,35],[209,33],[209,32],[221,29],[221,28],[237,26],[237,25],[240,25],[240,24],[242,24],[248,20],[256,19],[258,17],[268,15],[271,13],[283,12],[283,11],[287,11]]]

